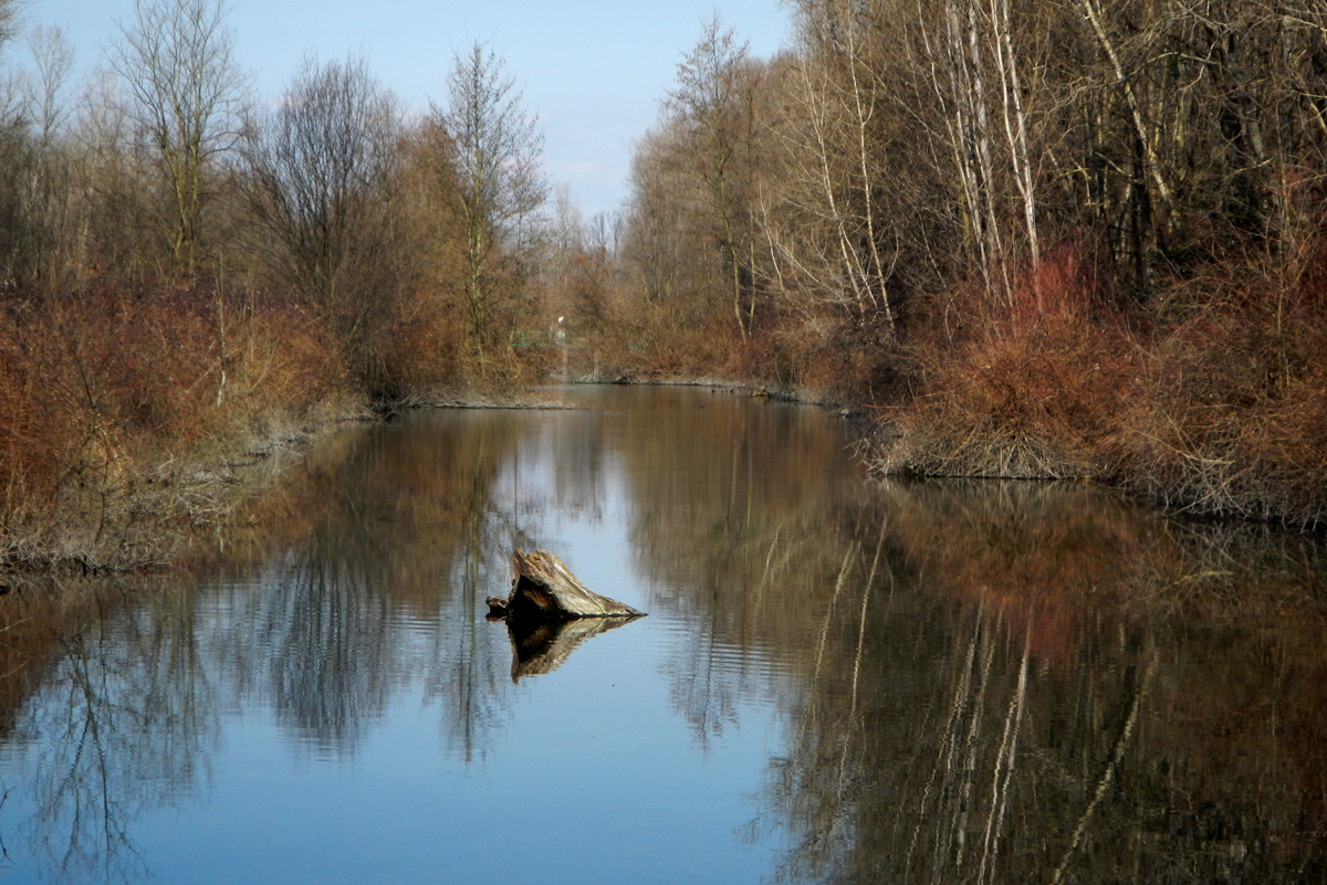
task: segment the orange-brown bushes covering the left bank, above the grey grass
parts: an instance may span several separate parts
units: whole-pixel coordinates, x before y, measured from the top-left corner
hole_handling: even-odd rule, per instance
[[[280,305],[102,290],[5,313],[7,559],[151,559],[154,533],[215,503],[190,470],[260,421],[299,417],[341,378],[317,330]]]

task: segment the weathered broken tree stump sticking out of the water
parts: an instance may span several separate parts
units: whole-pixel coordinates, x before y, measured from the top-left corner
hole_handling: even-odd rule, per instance
[[[508,619],[641,617],[645,612],[600,596],[547,550],[511,554],[511,596],[488,598],[488,613]]]

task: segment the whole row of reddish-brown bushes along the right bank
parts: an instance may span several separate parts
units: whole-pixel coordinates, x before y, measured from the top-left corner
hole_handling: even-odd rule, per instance
[[[1320,238],[1319,238],[1320,240]],[[1131,330],[1060,252],[1013,299],[958,290],[908,354],[881,472],[1091,477],[1165,503],[1327,515],[1327,246],[1174,281]]]

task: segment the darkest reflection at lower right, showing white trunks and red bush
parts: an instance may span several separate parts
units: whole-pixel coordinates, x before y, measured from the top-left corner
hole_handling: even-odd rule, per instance
[[[784,878],[1320,874],[1315,545],[1218,542],[1056,486],[896,486],[873,517],[840,542],[771,767]]]

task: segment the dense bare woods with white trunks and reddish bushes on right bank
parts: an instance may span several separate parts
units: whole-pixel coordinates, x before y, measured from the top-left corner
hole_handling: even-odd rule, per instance
[[[637,150],[662,363],[874,397],[882,469],[1322,518],[1327,7],[792,7],[770,60],[705,26]]]

